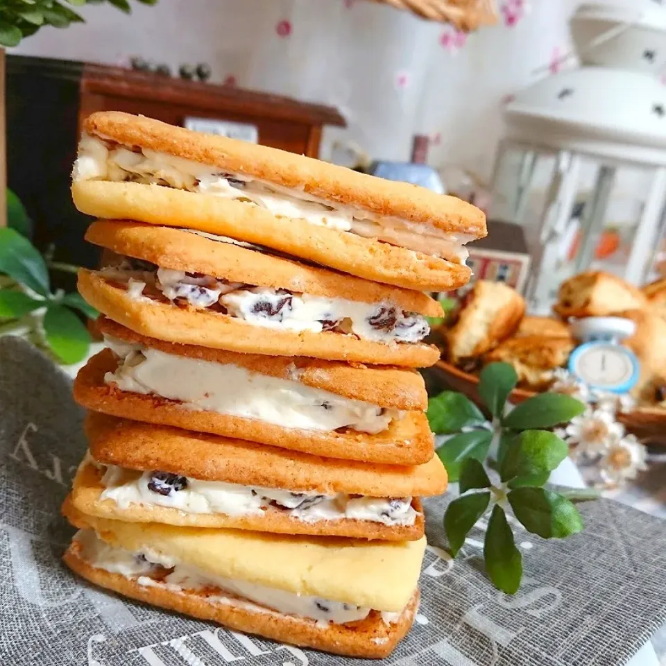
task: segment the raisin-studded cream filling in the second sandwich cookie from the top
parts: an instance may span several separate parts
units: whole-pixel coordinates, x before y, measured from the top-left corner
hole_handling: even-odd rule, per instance
[[[405,312],[388,301],[366,303],[253,287],[210,275],[158,268],[128,257],[118,266],[103,268],[99,274],[125,284],[134,300],[148,298],[144,291],[149,286],[171,302],[185,302],[203,309],[222,307],[228,316],[264,328],[350,333],[384,344],[416,343],[430,332],[425,317]]]

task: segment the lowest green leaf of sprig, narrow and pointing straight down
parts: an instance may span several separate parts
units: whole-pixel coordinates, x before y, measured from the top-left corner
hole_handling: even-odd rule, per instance
[[[513,595],[520,588],[522,555],[513,543],[513,532],[502,507],[495,504],[484,541],[486,572],[496,588]]]

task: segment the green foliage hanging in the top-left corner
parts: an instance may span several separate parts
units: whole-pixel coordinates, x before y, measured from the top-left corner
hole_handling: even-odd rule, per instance
[[[3,0],[0,4],[0,46],[17,46],[24,37],[34,35],[42,26],[67,28],[72,23],[83,23],[83,17],[69,6],[81,7],[87,3],[101,4],[105,0]],[[119,10],[130,13],[128,0],[107,0]],[[154,5],[157,0],[138,0]]]

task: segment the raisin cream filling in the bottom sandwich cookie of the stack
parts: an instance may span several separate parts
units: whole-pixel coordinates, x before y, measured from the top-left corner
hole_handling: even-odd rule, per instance
[[[178,593],[205,590],[207,599],[214,603],[251,606],[259,612],[273,610],[325,624],[357,622],[370,614],[370,608],[344,601],[298,595],[249,581],[217,577],[152,549],[130,552],[105,543],[92,529],[79,530],[74,540],[78,543],[80,557],[89,565],[121,574],[141,586],[164,586]],[[397,622],[400,615],[382,613],[387,624]]]

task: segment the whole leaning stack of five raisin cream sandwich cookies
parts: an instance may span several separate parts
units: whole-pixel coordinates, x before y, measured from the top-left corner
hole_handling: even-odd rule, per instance
[[[418,604],[420,498],[447,484],[422,291],[467,281],[483,215],[114,112],[86,121],[72,189],[111,258],[79,275],[107,348],[74,386],[65,561],[231,629],[389,654]]]

